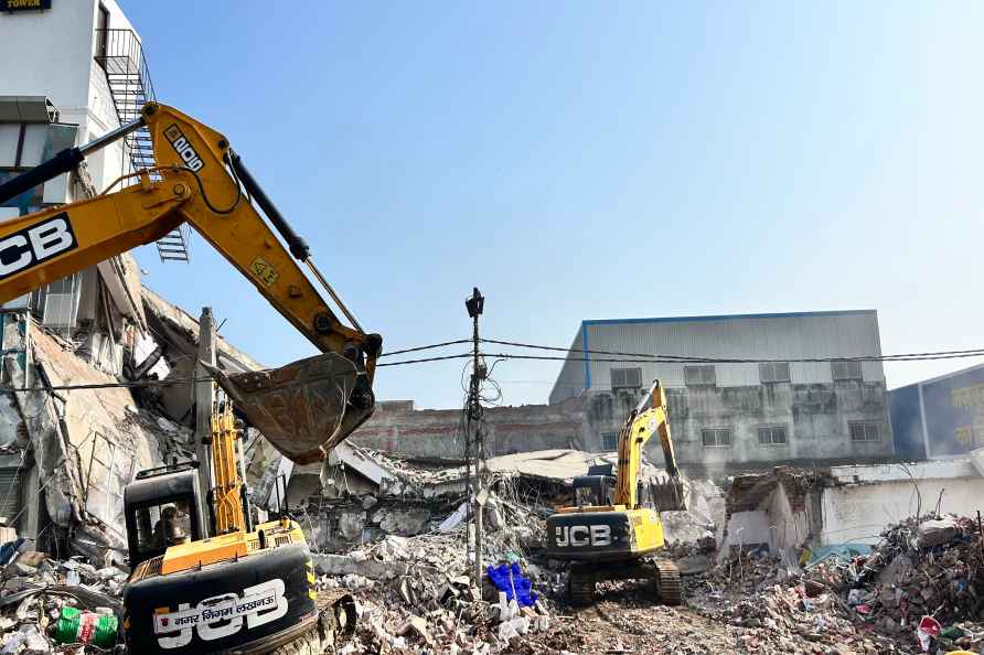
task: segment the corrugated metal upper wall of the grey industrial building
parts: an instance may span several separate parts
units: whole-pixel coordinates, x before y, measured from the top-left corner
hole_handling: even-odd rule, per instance
[[[587,350],[597,351],[776,359],[881,354],[875,311],[708,316],[689,320],[586,321],[582,332],[587,334]],[[581,347],[580,333],[571,347]],[[684,386],[683,364],[616,364],[593,361],[611,358],[606,355],[592,355],[591,358],[591,390],[610,388],[611,367],[641,366],[644,385],[659,377],[666,386]],[[760,384],[758,364],[715,364],[715,368],[718,387]],[[867,382],[885,382],[880,362],[865,362],[862,364],[862,374]],[[831,383],[831,364],[791,363],[790,378],[793,384]],[[559,386],[561,382],[564,387]],[[550,394],[550,401],[576,395],[571,393],[570,385],[578,383],[585,383],[584,361],[580,355],[573,355],[561,369],[558,385],[555,385],[554,393]]]

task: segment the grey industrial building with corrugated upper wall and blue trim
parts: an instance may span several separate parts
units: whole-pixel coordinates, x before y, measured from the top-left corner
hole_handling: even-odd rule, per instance
[[[549,401],[584,397],[587,445],[612,450],[659,378],[677,457],[692,470],[878,461],[894,454],[885,372],[849,358],[880,355],[874,310],[584,321]],[[810,361],[831,357],[847,359]],[[659,444],[649,447],[660,461]]]

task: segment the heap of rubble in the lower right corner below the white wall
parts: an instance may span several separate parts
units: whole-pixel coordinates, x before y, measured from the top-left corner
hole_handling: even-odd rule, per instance
[[[685,561],[697,550],[674,545],[669,552]],[[807,549],[799,562],[739,551],[684,579],[695,609],[747,629],[748,651],[799,652],[795,640],[828,648],[822,652],[984,646],[984,541],[976,518],[912,517],[886,529],[874,548]]]

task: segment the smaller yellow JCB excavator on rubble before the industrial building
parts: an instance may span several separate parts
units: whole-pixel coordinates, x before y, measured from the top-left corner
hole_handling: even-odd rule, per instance
[[[643,486],[642,448],[653,434],[660,436],[666,479]],[[680,570],[653,557],[665,544],[660,515],[641,502],[649,492],[659,511],[686,509],[660,380],[629,414],[618,447],[617,474],[611,475],[610,465],[592,466],[587,475],[575,477],[577,504],[547,518],[547,552],[570,562],[567,591],[573,604],[589,604],[599,581],[630,579],[650,580],[659,600],[680,604]]]

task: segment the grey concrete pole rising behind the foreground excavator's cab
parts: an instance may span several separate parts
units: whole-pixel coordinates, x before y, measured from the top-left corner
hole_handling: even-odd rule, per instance
[[[212,534],[208,520],[208,492],[212,488],[212,409],[215,404],[215,383],[202,362],[215,366],[215,323],[212,308],[203,307],[199,319],[199,362],[195,363],[195,457],[199,460],[199,516],[205,527],[205,535]]]

